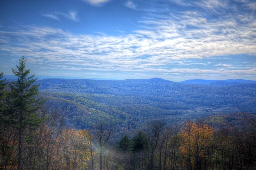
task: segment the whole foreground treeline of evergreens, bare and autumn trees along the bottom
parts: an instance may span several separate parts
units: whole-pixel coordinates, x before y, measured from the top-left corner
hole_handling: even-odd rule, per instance
[[[235,170],[256,168],[256,119],[213,130],[203,121],[180,129],[162,119],[145,121],[142,131],[113,138],[111,121],[90,130],[66,124],[66,109],[37,96],[34,75],[22,56],[17,81],[0,73],[0,168],[3,170]],[[118,142],[117,142],[118,141]]]

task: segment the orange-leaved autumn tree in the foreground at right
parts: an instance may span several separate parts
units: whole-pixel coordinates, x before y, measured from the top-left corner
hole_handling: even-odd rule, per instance
[[[202,160],[206,156],[206,148],[213,139],[213,129],[203,123],[188,123],[181,129],[181,153],[183,163],[189,170],[201,168]]]

